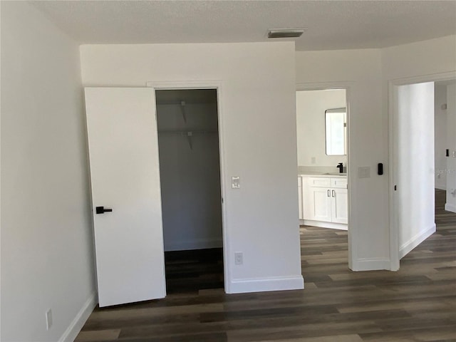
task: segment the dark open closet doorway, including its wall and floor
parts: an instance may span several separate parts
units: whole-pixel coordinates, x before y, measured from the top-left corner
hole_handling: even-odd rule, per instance
[[[155,90],[167,294],[224,288],[217,89]]]

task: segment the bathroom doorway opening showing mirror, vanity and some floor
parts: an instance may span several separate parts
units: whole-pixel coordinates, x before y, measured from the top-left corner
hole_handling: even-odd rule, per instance
[[[306,243],[306,236],[309,239],[321,236],[323,240],[337,240],[338,258],[346,263],[347,90],[339,88],[296,91],[296,127],[301,245]],[[311,250],[313,249],[309,247],[302,249],[303,259],[306,257],[305,253]]]

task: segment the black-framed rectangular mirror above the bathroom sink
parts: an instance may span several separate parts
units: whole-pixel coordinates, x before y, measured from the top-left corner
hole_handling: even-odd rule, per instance
[[[325,111],[326,155],[346,155],[347,109],[333,108]]]

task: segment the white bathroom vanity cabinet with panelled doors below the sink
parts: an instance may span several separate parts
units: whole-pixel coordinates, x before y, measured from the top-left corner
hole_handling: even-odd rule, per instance
[[[346,229],[348,223],[346,177],[302,176],[301,178],[304,224]]]

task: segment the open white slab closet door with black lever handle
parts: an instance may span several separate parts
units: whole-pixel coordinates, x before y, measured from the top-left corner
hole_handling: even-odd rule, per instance
[[[86,113],[100,306],[163,298],[154,90],[86,88]]]

